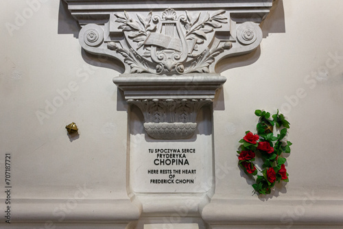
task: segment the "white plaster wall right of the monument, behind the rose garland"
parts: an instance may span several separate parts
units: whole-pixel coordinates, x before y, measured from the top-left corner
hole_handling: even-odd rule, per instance
[[[215,111],[215,146],[217,162],[227,162],[230,172],[217,182],[216,191],[256,198],[248,195],[252,188],[247,189],[246,179],[237,179],[237,139],[246,130],[256,131],[255,109],[276,112],[279,108],[291,123],[288,138],[294,145],[287,158],[289,184],[282,189],[287,193],[278,198],[315,191],[320,197],[342,200],[343,180],[338,174],[343,147],[343,31],[339,29],[343,2],[284,1],[283,5],[285,33],[263,39],[256,62],[222,73],[228,80],[223,91],[225,110]]]

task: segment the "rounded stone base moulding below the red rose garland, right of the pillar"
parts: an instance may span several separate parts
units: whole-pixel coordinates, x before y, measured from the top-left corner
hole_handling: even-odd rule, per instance
[[[229,200],[213,198],[202,219],[215,226],[343,226],[343,200]],[[222,227],[219,227],[222,228]]]

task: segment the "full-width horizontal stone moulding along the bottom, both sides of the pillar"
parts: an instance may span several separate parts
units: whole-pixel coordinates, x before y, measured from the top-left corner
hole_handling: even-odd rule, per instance
[[[183,202],[189,201],[189,197],[181,197],[181,200],[175,197],[161,198],[156,201],[154,197],[150,202],[154,204],[163,204],[163,202]],[[202,199],[194,199],[194,202],[200,202]],[[4,199],[1,199],[4,201]],[[83,200],[78,203],[78,208],[71,210],[66,214],[62,226],[60,226],[61,215],[51,214],[56,211],[56,206],[63,206],[70,200],[42,200],[42,199],[18,199],[14,202],[16,205],[16,218],[13,224],[16,228],[21,228],[17,224],[53,224],[62,228],[65,224],[80,223],[86,224],[111,224],[114,228],[136,228],[132,221],[138,221],[142,211],[145,217],[154,217],[162,215],[168,217],[173,214],[180,214],[176,211],[174,205],[167,205],[169,208],[161,212],[161,208],[154,208],[154,204],[142,206],[139,209],[132,204],[130,200]],[[342,218],[342,200],[339,199],[291,199],[276,200],[278,204],[265,206],[265,202],[260,200],[231,200],[228,196],[214,197],[210,204],[206,204],[201,211],[201,217],[211,228],[231,228],[239,225],[241,228],[282,228],[292,223],[294,228],[341,228]],[[180,204],[182,206],[182,204]],[[198,206],[198,204],[195,204]],[[251,206],[254,206],[252,208]],[[305,208],[305,211],[303,211]],[[198,216],[198,208],[187,208],[189,217]],[[261,211],[263,210],[263,214]],[[300,212],[302,215],[296,215]],[[293,213],[293,214],[291,214]],[[86,215],[86,217],[84,217]],[[168,218],[169,219],[169,218]],[[282,219],[282,221],[281,221]],[[288,219],[288,220],[287,220]],[[290,221],[292,219],[292,221]],[[156,223],[164,223],[163,219]],[[130,226],[132,224],[132,226]],[[1,225],[1,224],[0,224]],[[251,226],[251,227],[250,227]],[[27,228],[27,225],[26,227]],[[67,228],[67,226],[66,226]],[[69,228],[69,227],[68,227]]]

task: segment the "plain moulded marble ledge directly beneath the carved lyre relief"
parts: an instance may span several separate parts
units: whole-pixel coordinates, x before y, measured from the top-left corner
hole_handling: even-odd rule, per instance
[[[226,82],[219,74],[152,75],[123,74],[113,82],[126,99],[214,99]]]

